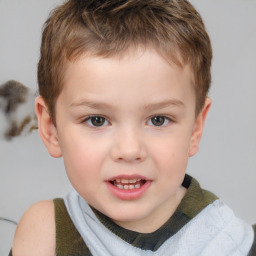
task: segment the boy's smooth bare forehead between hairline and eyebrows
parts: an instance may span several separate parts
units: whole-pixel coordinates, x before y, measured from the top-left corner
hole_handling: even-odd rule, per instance
[[[114,93],[129,98],[131,91],[136,91],[141,100],[146,100],[142,97],[145,93],[156,98],[170,89],[169,95],[194,97],[193,87],[194,77],[189,65],[170,63],[153,49],[137,49],[112,57],[85,54],[69,61],[63,92],[77,98],[88,94],[108,99]]]

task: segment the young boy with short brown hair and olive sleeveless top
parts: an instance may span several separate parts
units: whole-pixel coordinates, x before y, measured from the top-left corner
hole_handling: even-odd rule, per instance
[[[46,21],[36,114],[74,191],[33,205],[13,255],[255,255],[254,232],[185,174],[211,44],[185,0],[69,0]]]

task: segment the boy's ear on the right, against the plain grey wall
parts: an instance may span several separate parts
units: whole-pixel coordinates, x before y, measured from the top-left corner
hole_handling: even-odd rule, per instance
[[[211,104],[212,104],[211,99],[207,97],[205,99],[204,106],[201,112],[196,117],[194,129],[193,129],[193,133],[190,141],[189,156],[195,155],[199,150],[199,143],[203,134],[205,119],[209,112]]]

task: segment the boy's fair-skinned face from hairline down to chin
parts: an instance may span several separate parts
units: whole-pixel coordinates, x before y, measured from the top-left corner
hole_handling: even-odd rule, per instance
[[[195,118],[189,66],[170,65],[153,50],[81,57],[68,64],[56,103],[59,154],[49,151],[63,156],[91,206],[123,227],[151,232],[184,195],[204,117]]]

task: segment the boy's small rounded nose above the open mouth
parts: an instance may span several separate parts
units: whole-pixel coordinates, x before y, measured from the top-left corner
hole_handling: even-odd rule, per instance
[[[133,128],[119,130],[113,140],[111,156],[114,161],[143,161],[146,150],[142,134]]]

